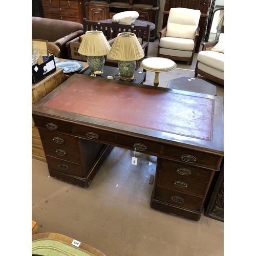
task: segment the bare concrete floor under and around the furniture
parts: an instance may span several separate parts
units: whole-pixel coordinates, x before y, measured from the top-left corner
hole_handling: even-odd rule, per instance
[[[156,56],[157,40],[150,43]],[[173,71],[160,73],[159,86],[170,79],[194,77],[196,65],[177,61]],[[153,85],[154,72],[145,84]],[[207,80],[208,81],[208,80]],[[213,83],[213,82],[212,82]],[[223,86],[217,95],[223,96]],[[199,222],[152,209],[150,198],[156,157],[114,147],[89,188],[49,176],[47,163],[32,159],[32,220],[37,233],[56,232],[91,245],[107,256],[222,256],[224,223],[204,215]]]

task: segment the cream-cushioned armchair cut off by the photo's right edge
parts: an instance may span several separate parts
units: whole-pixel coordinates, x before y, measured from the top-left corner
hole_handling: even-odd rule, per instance
[[[198,74],[224,85],[224,34],[219,40],[202,43],[198,53],[195,76]]]

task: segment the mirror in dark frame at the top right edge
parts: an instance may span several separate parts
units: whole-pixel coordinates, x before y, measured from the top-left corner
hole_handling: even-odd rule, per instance
[[[212,13],[212,19],[206,35],[206,41],[218,40],[220,33],[224,33],[224,8],[219,8]]]

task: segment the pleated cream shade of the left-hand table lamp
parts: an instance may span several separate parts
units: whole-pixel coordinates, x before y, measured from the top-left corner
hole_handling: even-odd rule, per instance
[[[110,44],[102,31],[87,31],[82,38],[78,53],[85,56],[104,56],[110,51]]]

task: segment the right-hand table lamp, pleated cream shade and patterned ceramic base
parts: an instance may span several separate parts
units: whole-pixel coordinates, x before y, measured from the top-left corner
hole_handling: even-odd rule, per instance
[[[144,57],[144,51],[134,33],[122,32],[117,35],[109,56],[119,60],[120,79],[132,81],[135,79],[136,60]]]

